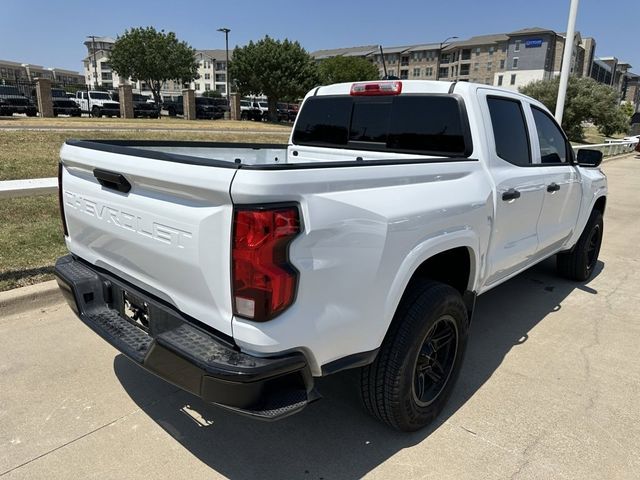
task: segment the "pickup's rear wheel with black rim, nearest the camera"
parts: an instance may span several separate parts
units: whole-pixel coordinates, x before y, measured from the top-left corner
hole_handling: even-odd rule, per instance
[[[410,286],[376,360],[361,370],[365,408],[397,430],[428,425],[451,394],[468,329],[459,292],[432,281]]]

